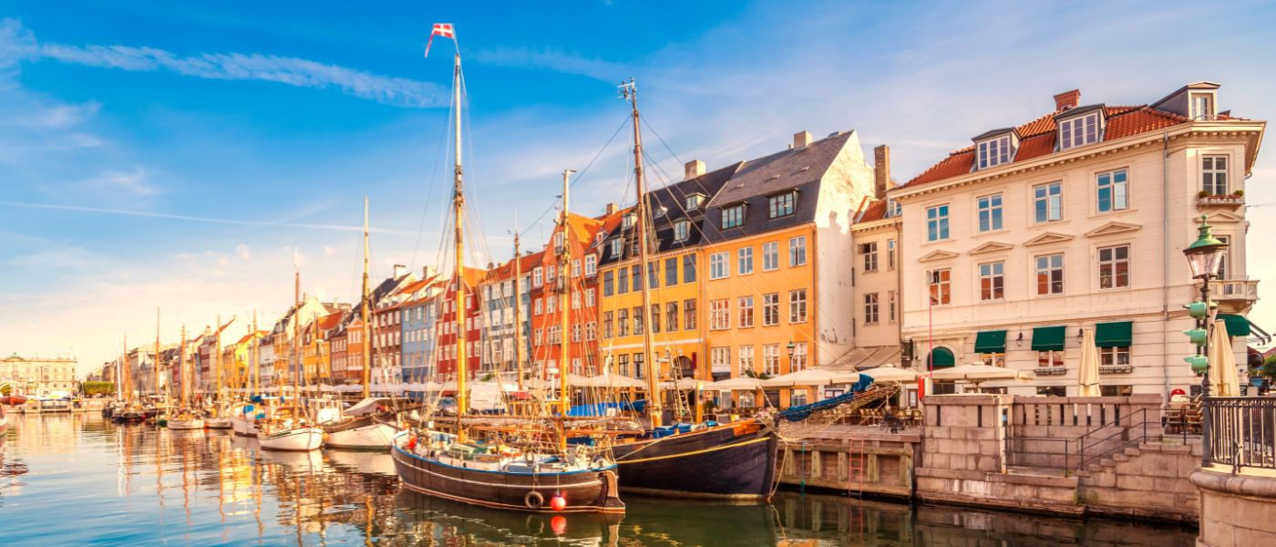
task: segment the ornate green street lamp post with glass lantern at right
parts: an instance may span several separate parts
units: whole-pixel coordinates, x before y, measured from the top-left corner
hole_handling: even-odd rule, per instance
[[[1222,252],[1228,247],[1228,244],[1219,241],[1213,235],[1210,233],[1210,223],[1206,222],[1206,217],[1201,217],[1201,226],[1197,228],[1197,240],[1187,249],[1183,250],[1183,255],[1188,259],[1188,268],[1192,269],[1192,278],[1201,279],[1201,302],[1197,305],[1197,310],[1189,310],[1192,315],[1198,317],[1197,328],[1193,330],[1187,330],[1188,337],[1197,346],[1196,362],[1205,361],[1205,374],[1201,375],[1201,465],[1210,464],[1210,368],[1208,368],[1208,356],[1210,356],[1210,330],[1213,329],[1212,311],[1210,305],[1210,278],[1219,275],[1219,264],[1222,259]],[[1205,338],[1203,340],[1201,338]],[[1202,343],[1203,342],[1203,343]],[[1203,351],[1203,360],[1202,357]],[[1192,360],[1189,357],[1188,360]]]

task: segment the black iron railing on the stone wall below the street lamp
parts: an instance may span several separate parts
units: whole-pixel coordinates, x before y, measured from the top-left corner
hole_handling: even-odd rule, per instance
[[[1276,398],[1207,397],[1205,462],[1276,469]]]

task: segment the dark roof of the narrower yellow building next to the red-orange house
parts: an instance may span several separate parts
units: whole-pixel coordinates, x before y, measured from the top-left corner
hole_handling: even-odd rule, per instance
[[[709,171],[695,179],[684,180],[661,189],[647,191],[647,208],[651,212],[652,230],[655,232],[656,241],[655,252],[694,247],[703,241],[702,226],[704,221],[704,209],[741,164],[744,164],[744,162],[735,162],[716,171]],[[694,194],[703,195],[704,200],[701,203],[701,207],[695,208],[695,210],[685,210],[686,196]],[[657,214],[661,208],[665,209],[665,213]],[[690,230],[688,231],[688,238],[685,241],[675,241],[674,223],[683,219],[692,223]],[[598,265],[611,264],[628,258],[628,252],[630,251],[629,244],[634,237],[637,237],[637,230],[633,228],[620,228],[614,232],[615,233],[610,233],[601,245],[598,252]],[[611,240],[616,237],[625,238],[625,245],[621,249],[621,256],[612,256],[611,254]]]

